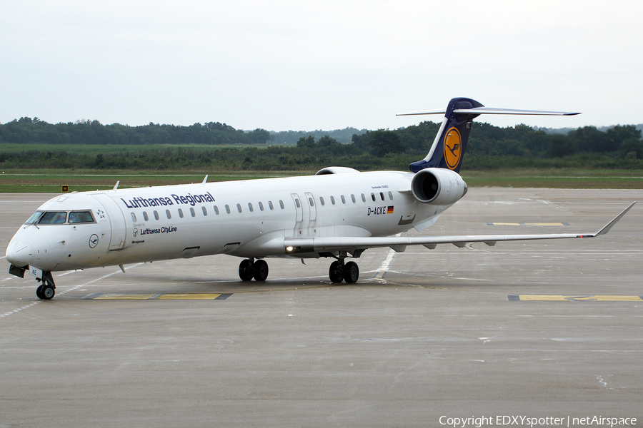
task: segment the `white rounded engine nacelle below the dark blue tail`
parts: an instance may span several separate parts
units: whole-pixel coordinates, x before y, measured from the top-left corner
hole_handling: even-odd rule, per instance
[[[467,183],[452,170],[426,168],[413,177],[411,192],[422,203],[452,205],[467,193]]]

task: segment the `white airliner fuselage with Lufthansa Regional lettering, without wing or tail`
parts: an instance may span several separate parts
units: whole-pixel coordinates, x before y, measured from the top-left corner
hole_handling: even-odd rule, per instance
[[[449,208],[418,203],[408,192],[413,176],[355,172],[70,193],[37,210],[65,213],[67,221],[24,225],[7,255],[44,271],[221,253],[287,256],[285,238],[394,235]],[[70,223],[71,213],[84,211],[93,221]]]

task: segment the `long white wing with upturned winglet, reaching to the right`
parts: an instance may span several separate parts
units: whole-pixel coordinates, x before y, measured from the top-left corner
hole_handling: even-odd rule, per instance
[[[450,236],[371,236],[364,238],[286,238],[284,247],[286,254],[324,253],[331,251],[365,250],[367,248],[391,247],[398,252],[406,249],[407,245],[424,245],[433,249],[438,244],[453,244],[464,247],[468,243],[485,243],[495,245],[501,241],[566,239],[566,238],[595,238],[608,233],[636,202],[631,203],[612,221],[595,233],[550,233],[543,235],[450,235]]]

